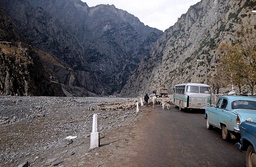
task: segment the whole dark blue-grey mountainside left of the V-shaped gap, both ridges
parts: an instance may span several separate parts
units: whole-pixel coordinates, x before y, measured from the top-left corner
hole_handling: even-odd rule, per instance
[[[122,89],[162,33],[113,5],[88,7],[79,0],[0,2],[30,44],[73,70],[68,78],[57,73],[61,83],[101,95]]]

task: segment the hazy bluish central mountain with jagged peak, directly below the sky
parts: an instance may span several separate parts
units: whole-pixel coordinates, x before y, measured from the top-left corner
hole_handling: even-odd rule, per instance
[[[99,77],[96,82],[107,83],[100,92],[119,92],[162,34],[114,5],[90,8],[80,0],[28,1],[51,13],[83,46],[91,71]],[[88,85],[84,71],[76,75]]]

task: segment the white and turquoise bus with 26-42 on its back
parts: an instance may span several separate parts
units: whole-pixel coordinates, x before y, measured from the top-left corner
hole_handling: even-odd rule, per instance
[[[202,83],[182,83],[174,85],[173,104],[183,109],[205,109],[212,106],[211,87]]]

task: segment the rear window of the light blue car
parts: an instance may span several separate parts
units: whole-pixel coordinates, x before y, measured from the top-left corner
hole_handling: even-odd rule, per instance
[[[231,103],[231,110],[243,109],[243,110],[255,110],[256,111],[256,101],[249,100],[236,100]]]

